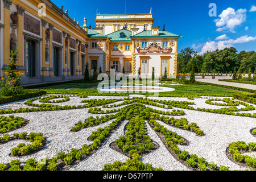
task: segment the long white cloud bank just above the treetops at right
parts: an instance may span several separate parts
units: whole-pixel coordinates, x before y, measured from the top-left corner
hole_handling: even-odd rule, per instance
[[[216,49],[222,50],[226,47],[227,48],[233,47],[234,44],[241,44],[241,43],[246,43],[246,42],[255,41],[255,40],[256,40],[256,36],[253,37],[253,36],[244,35],[235,40],[229,39],[229,40],[209,41],[204,44],[203,48],[201,49],[200,55],[202,55],[203,53],[206,53],[207,51],[215,51]]]

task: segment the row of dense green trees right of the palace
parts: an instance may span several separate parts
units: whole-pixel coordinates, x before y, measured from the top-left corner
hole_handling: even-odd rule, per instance
[[[184,48],[177,55],[177,68],[179,73],[189,73],[194,68],[196,73],[211,73],[213,69],[216,72],[233,72],[236,68],[238,73],[255,72],[256,52],[241,51],[237,52],[234,47],[224,48],[222,50],[208,51],[199,55],[193,48]]]

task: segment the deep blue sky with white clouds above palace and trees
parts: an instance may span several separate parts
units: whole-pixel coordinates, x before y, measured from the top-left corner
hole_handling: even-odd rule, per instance
[[[216,48],[236,47],[237,51],[256,51],[256,2],[246,1],[81,1],[52,0],[58,7],[64,6],[71,18],[80,25],[95,27],[96,10],[100,14],[150,13],[152,7],[154,26],[184,36],[178,41],[178,52],[192,47],[199,53]],[[126,3],[125,3],[126,2]],[[217,16],[209,16],[210,3],[216,4]],[[126,5],[126,6],[125,6]],[[125,8],[126,7],[126,8]],[[218,39],[216,39],[219,37]]]

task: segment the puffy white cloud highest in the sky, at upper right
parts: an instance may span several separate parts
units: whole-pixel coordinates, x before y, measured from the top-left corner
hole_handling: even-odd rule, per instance
[[[235,11],[232,7],[222,11],[220,18],[214,19],[216,23],[216,31],[228,30],[230,32],[235,32],[234,28],[240,26],[246,20],[246,9],[239,9]]]

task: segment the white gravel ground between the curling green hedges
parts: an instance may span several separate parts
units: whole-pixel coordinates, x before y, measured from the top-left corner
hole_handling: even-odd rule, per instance
[[[130,96],[132,97],[132,96]],[[110,98],[123,98],[123,97],[106,97],[106,96],[89,96],[88,98],[79,98],[79,97],[70,97],[71,100],[67,102],[61,102],[55,105],[83,105],[81,100],[87,99],[110,99]],[[197,108],[211,108],[211,109],[220,109],[223,106],[214,106],[205,104],[205,101],[208,98],[215,97],[203,97],[195,98],[195,100],[188,100],[188,98],[155,98],[157,100],[176,100],[176,101],[191,101],[195,102],[193,107]],[[221,98],[221,97],[217,97]],[[154,98],[152,98],[154,99]],[[13,102],[10,104],[0,105],[0,109],[12,108],[16,109],[19,107],[28,107],[24,105],[23,101]],[[34,103],[40,104],[40,102],[35,101]],[[119,102],[118,102],[119,103]],[[110,104],[111,105],[111,104]],[[255,105],[254,105],[255,106]],[[124,107],[124,106],[120,106]],[[148,106],[158,110],[169,110],[164,108],[159,108],[155,106]],[[244,106],[238,106],[241,108]],[[256,107],[256,106],[255,106]],[[116,107],[119,108],[119,107]],[[114,109],[111,108],[111,109]],[[179,109],[179,108],[173,108]],[[18,143],[25,143],[24,140],[14,140],[6,144],[0,144],[0,163],[9,163],[13,159],[20,159],[20,161],[25,162],[27,159],[35,158],[36,160],[42,158],[52,158],[55,157],[57,152],[60,151],[69,151],[71,148],[81,148],[83,144],[90,144],[87,138],[92,133],[96,131],[98,127],[104,128],[108,126],[112,121],[106,122],[102,125],[96,127],[90,127],[76,133],[70,131],[73,126],[78,121],[84,121],[90,116],[96,117],[97,114],[88,113],[89,109],[76,109],[76,110],[61,110],[61,111],[45,111],[45,112],[36,112],[36,113],[18,113],[14,114],[15,116],[23,117],[30,120],[27,126],[22,127],[21,129],[10,132],[13,133],[39,133],[42,132],[44,136],[47,137],[46,147],[30,156],[23,156],[21,158],[10,157],[11,148],[15,147]],[[102,109],[105,110],[105,109]],[[172,109],[171,109],[172,110]],[[205,136],[197,137],[195,133],[190,131],[185,131],[181,129],[176,129],[169,125],[166,125],[163,122],[158,121],[161,125],[167,127],[168,130],[175,131],[177,134],[186,138],[189,141],[189,146],[179,146],[181,150],[186,150],[189,154],[197,154],[199,157],[204,157],[208,162],[214,162],[217,166],[228,166],[231,170],[244,170],[246,168],[240,167],[237,164],[231,162],[225,154],[226,148],[229,143],[237,141],[245,141],[246,143],[255,142],[255,137],[250,134],[250,129],[253,129],[256,125],[255,118],[248,117],[237,117],[232,115],[224,114],[213,114],[205,113],[194,110],[184,110],[185,115],[175,116],[175,118],[187,118],[189,122],[197,123],[197,126],[204,131]],[[246,113],[246,111],[244,111]],[[256,111],[247,111],[249,113],[256,113]],[[10,115],[10,114],[6,114]],[[12,114],[11,114],[12,115]],[[101,115],[99,115],[101,116]],[[109,144],[113,142],[116,138],[119,138],[123,135],[123,127],[126,125],[127,121],[123,122],[117,131],[109,138],[108,142],[95,154],[90,156],[90,158],[76,164],[69,170],[83,170],[83,171],[97,171],[101,170],[104,164],[113,163],[116,160],[125,162],[127,156],[119,154],[119,152],[114,151],[109,147]],[[148,126],[148,124],[147,124]],[[148,135],[152,140],[159,143],[160,147],[158,150],[144,156],[142,158],[144,163],[151,163],[154,167],[161,167],[167,171],[183,171],[190,170],[179,161],[177,161],[171,154],[168,152],[164,146],[162,140],[156,135],[154,130],[150,126],[148,128]],[[30,143],[30,142],[26,142]],[[253,155],[253,154],[251,154]]]

